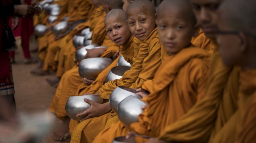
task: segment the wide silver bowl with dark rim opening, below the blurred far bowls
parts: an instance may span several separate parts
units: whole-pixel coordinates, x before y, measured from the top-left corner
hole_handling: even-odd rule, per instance
[[[106,69],[113,60],[111,58],[88,58],[80,62],[78,72],[81,77],[95,80],[101,71]]]

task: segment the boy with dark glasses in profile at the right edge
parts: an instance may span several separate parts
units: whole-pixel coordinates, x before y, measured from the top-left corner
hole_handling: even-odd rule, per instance
[[[216,39],[220,55],[225,65],[239,65],[241,73],[237,113],[218,131],[212,143],[256,142],[255,7],[254,0],[225,0],[218,9]]]

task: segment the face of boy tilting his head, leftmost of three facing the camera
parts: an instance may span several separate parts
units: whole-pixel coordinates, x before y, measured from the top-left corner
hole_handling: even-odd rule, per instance
[[[118,18],[109,18],[105,21],[107,35],[117,45],[124,44],[130,37],[130,31],[126,21]]]

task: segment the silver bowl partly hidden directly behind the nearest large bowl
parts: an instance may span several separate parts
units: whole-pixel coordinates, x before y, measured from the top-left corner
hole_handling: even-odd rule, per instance
[[[117,88],[115,88],[109,96],[109,104],[112,110],[117,112],[119,110],[118,105],[121,103],[121,101],[123,101],[123,99],[129,97],[130,95],[137,99],[142,98],[140,95],[136,94],[136,90],[134,89],[126,88],[123,86],[118,86]]]

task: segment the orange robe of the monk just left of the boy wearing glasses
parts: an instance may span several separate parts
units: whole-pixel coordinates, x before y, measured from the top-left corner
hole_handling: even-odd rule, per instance
[[[210,74],[204,99],[182,118],[166,127],[159,138],[169,142],[207,143],[216,124],[217,114],[220,112],[225,115],[235,113],[230,109],[227,111],[232,113],[225,113],[219,110],[219,106],[223,104],[229,107],[230,100],[226,99],[237,97],[238,87],[239,67],[223,65],[220,52],[216,48],[210,62]]]

